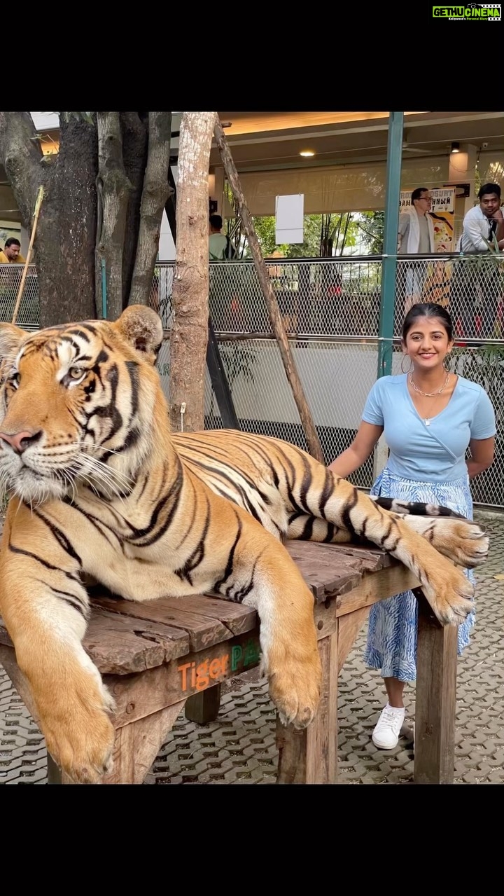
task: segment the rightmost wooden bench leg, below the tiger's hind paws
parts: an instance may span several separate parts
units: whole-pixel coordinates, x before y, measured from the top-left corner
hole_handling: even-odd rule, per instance
[[[421,589],[418,599],[414,782],[453,784],[457,701],[457,626],[442,626]]]

